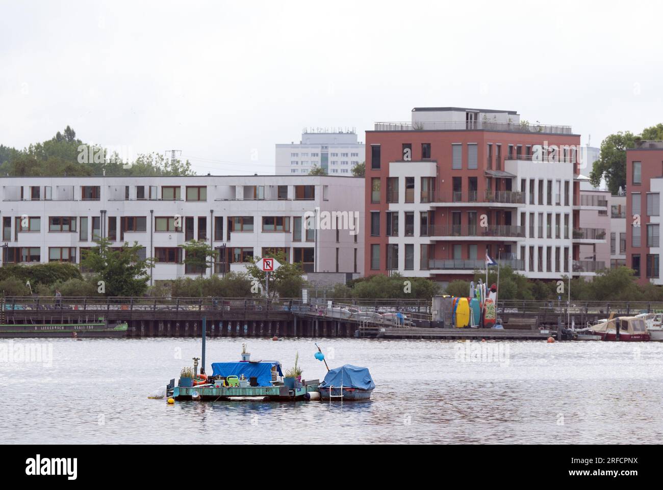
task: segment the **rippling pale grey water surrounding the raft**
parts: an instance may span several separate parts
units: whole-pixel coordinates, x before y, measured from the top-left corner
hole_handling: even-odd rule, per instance
[[[253,359],[324,377],[312,340],[213,339],[210,362]],[[200,339],[0,340],[52,349],[0,359],[6,443],[658,443],[663,343],[322,339],[331,366],[368,366],[367,402],[148,399],[200,355]],[[19,349],[19,350],[17,350]],[[333,359],[330,359],[333,358]],[[491,360],[492,358],[492,360]],[[48,363],[46,363],[48,364]]]

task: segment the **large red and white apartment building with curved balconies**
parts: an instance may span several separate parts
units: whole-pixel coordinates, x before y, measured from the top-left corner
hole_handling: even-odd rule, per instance
[[[366,135],[365,273],[446,283],[485,268],[485,255],[527,277],[594,275],[579,230],[580,137],[515,111],[416,107],[407,123]],[[601,203],[605,209],[605,203]]]

